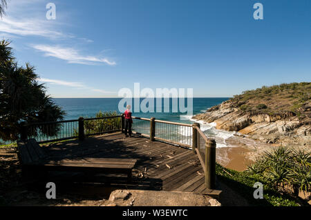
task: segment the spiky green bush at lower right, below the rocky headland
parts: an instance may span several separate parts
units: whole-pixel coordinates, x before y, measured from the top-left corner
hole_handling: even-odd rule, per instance
[[[311,157],[302,150],[290,151],[286,147],[265,152],[263,157],[248,166],[247,172],[278,190],[288,186],[296,194],[311,191]]]

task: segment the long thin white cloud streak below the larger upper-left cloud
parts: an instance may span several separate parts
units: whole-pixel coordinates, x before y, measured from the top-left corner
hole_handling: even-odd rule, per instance
[[[78,50],[74,48],[63,48],[61,46],[48,46],[48,45],[34,45],[32,48],[44,52],[46,57],[56,57],[68,61],[68,63],[81,63],[81,64],[94,64],[94,63],[106,63],[109,66],[114,66],[115,61],[109,61],[106,58],[84,56],[79,54]]]

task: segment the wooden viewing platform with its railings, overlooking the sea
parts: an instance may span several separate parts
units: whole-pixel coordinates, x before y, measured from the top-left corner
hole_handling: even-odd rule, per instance
[[[205,136],[200,124],[161,121],[154,117],[133,117],[133,121],[135,135],[131,138],[123,134],[123,115],[23,124],[20,137],[21,142],[34,139],[37,143],[50,143],[43,148],[48,161],[36,162],[36,166],[57,168],[54,174],[68,170],[69,173],[61,175],[61,181],[73,181],[73,177],[79,176],[79,182],[100,182],[115,189],[196,192],[219,197],[221,191],[216,190],[215,185],[216,142]],[[35,150],[40,151],[38,148]],[[109,159],[117,163],[103,162]],[[124,166],[117,166],[128,163],[124,160],[135,163],[124,170]],[[102,168],[126,171],[128,177],[132,171],[133,179],[129,182],[121,174],[106,172],[102,172],[101,177],[95,175],[95,170],[102,171]],[[80,171],[86,175],[82,176]],[[55,176],[50,180],[55,181]]]

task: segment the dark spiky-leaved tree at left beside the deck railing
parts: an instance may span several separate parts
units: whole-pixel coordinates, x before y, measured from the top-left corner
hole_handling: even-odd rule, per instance
[[[0,139],[15,141],[21,132],[21,122],[58,121],[64,112],[46,94],[37,81],[35,68],[26,63],[18,66],[12,56],[10,42],[0,41]],[[55,128],[57,130],[57,128]],[[46,134],[46,130],[38,128]]]

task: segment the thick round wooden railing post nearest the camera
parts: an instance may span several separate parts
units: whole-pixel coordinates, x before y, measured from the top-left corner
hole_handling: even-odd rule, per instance
[[[205,141],[205,186],[208,189],[215,188],[216,180],[216,141]]]

